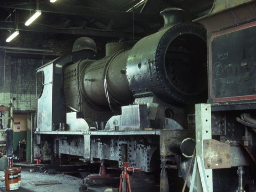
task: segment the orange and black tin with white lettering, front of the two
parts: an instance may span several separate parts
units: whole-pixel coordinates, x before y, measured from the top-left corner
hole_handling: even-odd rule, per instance
[[[11,168],[5,171],[5,189],[6,191],[17,190],[18,185],[18,169]]]

